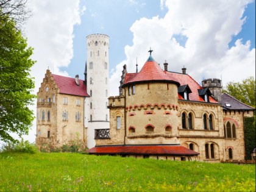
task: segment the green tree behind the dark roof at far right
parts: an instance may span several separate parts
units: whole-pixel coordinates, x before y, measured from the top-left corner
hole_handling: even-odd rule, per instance
[[[241,83],[229,82],[223,91],[255,108],[255,79],[253,76],[247,77]]]

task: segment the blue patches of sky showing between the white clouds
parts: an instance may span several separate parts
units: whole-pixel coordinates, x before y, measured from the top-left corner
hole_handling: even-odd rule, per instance
[[[68,71],[73,77],[79,74],[84,77],[83,69],[86,55],[86,36],[90,34],[107,34],[110,36],[110,68],[115,68],[118,63],[126,60],[124,47],[132,44],[133,34],[130,27],[140,18],[152,18],[159,16],[163,18],[168,11],[166,7],[161,9],[160,1],[120,1],[120,0],[88,0],[80,2],[80,9],[86,7],[84,15],[81,16],[81,24],[74,26],[74,57],[68,67],[61,68]],[[229,43],[229,48],[235,45],[235,41],[242,39],[245,44],[251,41],[250,49],[255,48],[255,1],[246,6],[243,18],[246,21],[241,32],[233,35]],[[185,46],[187,37],[183,35],[173,35],[182,46]],[[150,39],[148,40],[150,41]],[[152,48],[154,49],[154,48]],[[148,50],[144,50],[147,54]],[[137,55],[134,55],[137,57]],[[77,71],[77,67],[79,70]]]

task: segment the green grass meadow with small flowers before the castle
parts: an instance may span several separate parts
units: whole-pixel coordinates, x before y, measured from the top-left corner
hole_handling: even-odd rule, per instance
[[[0,191],[255,191],[255,165],[0,153]]]

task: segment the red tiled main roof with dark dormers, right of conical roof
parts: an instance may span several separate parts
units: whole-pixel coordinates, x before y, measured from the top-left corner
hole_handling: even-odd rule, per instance
[[[198,90],[202,89],[196,80],[194,80],[191,76],[188,74],[182,74],[182,73],[174,73],[171,71],[168,71],[166,73],[171,79],[176,80],[180,83],[180,85],[188,85],[190,87],[190,90],[192,93],[189,94],[190,101],[201,101],[205,102],[204,99],[201,98],[198,94]],[[184,99],[179,93],[178,93],[178,99]],[[215,99],[213,99],[211,96],[209,96],[209,101],[212,103],[218,103]]]

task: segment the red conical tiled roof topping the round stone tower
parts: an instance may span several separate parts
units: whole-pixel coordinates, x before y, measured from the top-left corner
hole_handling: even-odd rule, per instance
[[[160,68],[157,62],[149,56],[149,59],[143,65],[139,73],[127,73],[126,78],[124,79],[124,85],[132,84],[135,82],[145,82],[145,81],[165,81],[172,82],[174,84],[178,84],[174,79],[166,75],[163,69]]]

